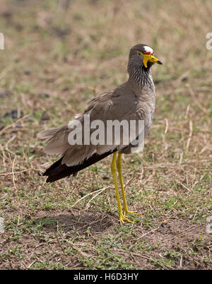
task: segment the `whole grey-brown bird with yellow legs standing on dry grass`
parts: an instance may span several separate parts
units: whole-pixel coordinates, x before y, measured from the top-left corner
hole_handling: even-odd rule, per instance
[[[76,177],[79,171],[99,162],[109,155],[113,155],[111,172],[121,223],[135,223],[133,220],[129,219],[128,214],[139,214],[137,211],[129,211],[126,204],[122,177],[122,155],[131,153],[131,149],[134,148],[134,145],[138,145],[135,141],[138,142],[136,138],[141,134],[141,131],[139,132],[138,130],[139,121],[143,122],[142,134],[144,138],[151,128],[155,111],[155,86],[151,67],[155,63],[162,64],[162,62],[155,57],[151,47],[145,44],[134,45],[129,51],[129,61],[127,64],[129,77],[126,82],[117,86],[114,90],[93,97],[93,99],[88,102],[86,110],[81,114],[76,114],[75,119],[72,119],[69,124],[54,129],[42,130],[37,134],[37,138],[47,143],[43,149],[45,153],[49,155],[59,155],[59,160],[54,162],[42,174],[47,177],[46,182],[55,182],[58,179],[70,177],[70,175]],[[86,134],[92,136],[96,130],[89,129],[89,132],[89,127],[86,126],[87,132],[85,129],[84,132],[81,130],[81,138],[78,139],[78,142],[81,141],[81,143],[70,143],[70,135],[74,133],[76,137],[77,134],[79,134],[79,129],[81,129],[76,122],[81,124],[81,126],[85,126],[88,117],[91,124],[96,121],[102,122],[104,133],[107,130],[107,122],[125,121],[130,123],[131,121],[135,121],[136,128],[134,128],[134,136],[136,137],[130,139],[129,133],[125,135],[123,129],[120,127],[119,133],[117,133],[117,131],[112,132],[112,143],[111,141],[109,144],[87,143]],[[77,128],[78,130],[76,130]],[[117,140],[114,138],[116,134],[122,137]],[[73,140],[73,135],[71,138]],[[124,138],[129,138],[128,140],[126,139],[126,143],[123,142]],[[119,194],[117,172],[121,187],[123,207]]]

